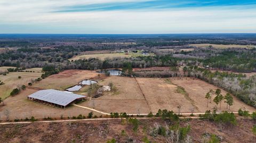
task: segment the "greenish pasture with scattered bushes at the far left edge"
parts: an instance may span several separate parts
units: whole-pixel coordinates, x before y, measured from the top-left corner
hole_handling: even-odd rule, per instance
[[[6,75],[0,75],[0,80],[4,82],[4,85],[0,85],[0,97],[8,97],[11,91],[17,88],[18,85],[27,86],[31,79],[39,78],[41,74],[37,72],[10,72]],[[19,76],[21,79],[18,78]]]

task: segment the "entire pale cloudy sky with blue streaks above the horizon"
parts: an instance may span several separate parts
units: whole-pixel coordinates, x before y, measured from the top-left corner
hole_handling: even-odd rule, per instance
[[[0,33],[256,33],[256,0],[0,0]]]

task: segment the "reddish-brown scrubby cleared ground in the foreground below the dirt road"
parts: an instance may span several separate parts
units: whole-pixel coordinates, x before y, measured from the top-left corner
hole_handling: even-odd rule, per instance
[[[97,120],[59,123],[31,123],[31,124],[6,124],[0,125],[0,140],[2,142],[107,142],[113,138],[116,142],[143,142],[147,137],[152,142],[165,142],[165,137],[157,134],[150,136],[150,131],[156,124],[165,127],[171,125],[161,119],[139,120],[138,132],[135,133],[130,123],[122,123],[121,120]],[[203,134],[216,134],[221,142],[253,142],[255,138],[251,128],[253,121],[238,120],[235,127],[221,128],[219,124],[204,120],[183,120],[180,127],[191,130],[189,136],[191,142],[202,142]],[[202,129],[203,127],[203,129]],[[124,130],[125,134],[121,134]]]

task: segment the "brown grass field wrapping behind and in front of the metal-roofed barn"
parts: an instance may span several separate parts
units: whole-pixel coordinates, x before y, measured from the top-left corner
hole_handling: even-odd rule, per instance
[[[27,73],[27,72],[19,72]],[[27,74],[40,74],[30,73]],[[94,71],[83,71],[83,70],[66,70],[59,74],[51,75],[42,81],[35,83],[31,87],[27,87],[26,90],[21,91],[20,94],[9,97],[4,100],[5,106],[0,106],[1,120],[5,119],[4,111],[10,111],[10,119],[24,119],[26,117],[35,116],[37,118],[44,118],[47,116],[60,117],[63,116],[77,116],[79,114],[87,115],[90,111],[78,108],[75,106],[67,107],[66,110],[61,108],[55,108],[46,106],[36,102],[32,102],[27,99],[27,96],[33,94],[40,89],[59,89],[64,90],[66,87],[76,85],[83,79],[90,79],[97,76],[98,73]],[[22,75],[21,75],[22,76]],[[18,79],[18,77],[17,77]],[[0,86],[1,87],[1,86]]]

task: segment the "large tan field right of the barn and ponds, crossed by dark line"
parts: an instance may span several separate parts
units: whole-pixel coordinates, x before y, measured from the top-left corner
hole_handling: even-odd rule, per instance
[[[199,79],[170,78],[168,80],[109,77],[99,82],[99,84],[108,85],[109,82],[113,82],[117,87],[118,91],[116,93],[106,92],[103,96],[84,102],[81,105],[106,113],[125,111],[133,114],[150,111],[156,113],[159,108],[178,112],[177,106],[179,105],[182,106],[182,113],[190,113],[191,108],[194,108],[194,112],[205,112],[211,110],[215,105],[213,102],[209,103],[207,108],[207,100],[204,97],[206,92],[210,89],[217,89],[217,87]],[[187,94],[177,92],[178,86],[185,88]],[[222,90],[222,94],[225,95],[226,91]],[[235,97],[234,105],[230,107],[230,111],[237,112],[242,106],[250,112],[256,111],[255,108],[246,105]],[[226,110],[224,102],[221,110]]]

